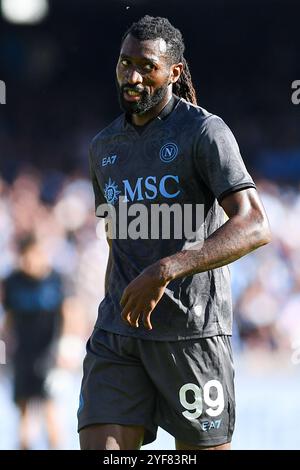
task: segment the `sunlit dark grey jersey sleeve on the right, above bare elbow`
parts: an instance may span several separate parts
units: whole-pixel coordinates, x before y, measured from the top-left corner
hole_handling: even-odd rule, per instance
[[[220,202],[227,194],[245,188],[255,188],[235,137],[218,116],[210,116],[198,136],[196,168]]]

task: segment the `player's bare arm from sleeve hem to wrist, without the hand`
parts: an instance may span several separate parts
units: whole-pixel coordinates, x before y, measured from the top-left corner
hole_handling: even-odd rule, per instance
[[[221,202],[229,219],[197,249],[184,250],[158,262],[170,282],[219,268],[270,242],[266,213],[255,189],[229,194]]]

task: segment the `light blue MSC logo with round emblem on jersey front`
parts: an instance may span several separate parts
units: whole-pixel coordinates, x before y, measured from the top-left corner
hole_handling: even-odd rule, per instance
[[[123,180],[122,183],[124,187],[123,202],[155,199],[158,194],[167,199],[173,199],[180,193],[180,189],[177,188],[179,184],[177,175],[164,175],[160,180],[157,180],[156,176],[140,177],[133,185],[130,184],[128,179]],[[115,204],[119,194],[121,194],[121,191],[119,191],[118,185],[109,178],[104,187],[104,196],[107,203]]]

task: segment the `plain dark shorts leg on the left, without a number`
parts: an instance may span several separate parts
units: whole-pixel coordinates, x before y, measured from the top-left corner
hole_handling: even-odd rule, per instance
[[[136,340],[101,329],[94,330],[84,360],[78,409],[81,436],[88,435],[89,439],[94,439],[94,429],[97,429],[101,436],[104,433],[101,437],[101,445],[104,445],[106,426],[115,425],[109,428],[109,431],[114,429],[119,433],[114,435],[114,439],[118,435],[123,442],[123,432],[126,434],[128,428],[128,436],[132,436],[130,445],[133,442],[138,446],[143,429],[143,444],[148,444],[155,439],[157,432],[153,419],[155,405],[156,390],[136,354]],[[94,425],[105,426],[95,428]]]

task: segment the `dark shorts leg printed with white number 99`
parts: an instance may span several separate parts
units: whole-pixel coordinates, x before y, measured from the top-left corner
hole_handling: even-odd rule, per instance
[[[144,354],[159,391],[156,422],[188,448],[231,441],[235,422],[230,338],[156,342]]]

